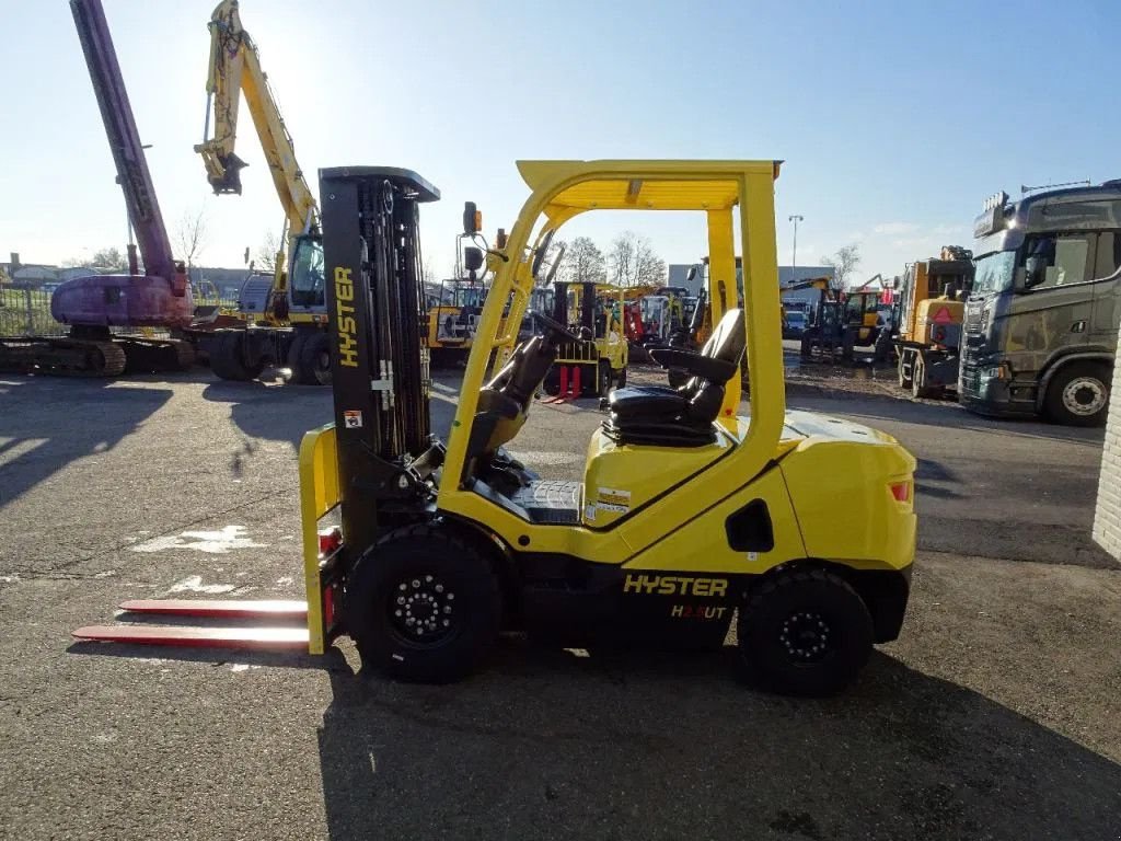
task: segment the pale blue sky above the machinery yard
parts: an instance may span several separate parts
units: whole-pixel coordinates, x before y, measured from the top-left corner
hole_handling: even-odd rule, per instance
[[[211,195],[201,139],[212,0],[104,0],[174,229],[204,209],[202,261],[241,265],[281,213],[248,113],[242,196]],[[63,0],[0,0],[9,85],[0,255],[25,262],[122,246],[124,211]],[[998,190],[1121,176],[1115,2],[242,0],[305,172],[416,169],[443,192],[426,258],[452,266],[462,203],[488,231],[526,196],[519,158],[781,158],[778,246],[798,264],[859,242],[863,278],[969,244]],[[313,187],[315,187],[313,179]],[[569,230],[571,229],[571,230]],[[589,214],[670,262],[704,253],[678,214]]]

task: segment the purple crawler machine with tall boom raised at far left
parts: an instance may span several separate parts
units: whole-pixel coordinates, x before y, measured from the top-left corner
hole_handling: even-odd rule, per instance
[[[184,265],[172,256],[101,0],[71,0],[71,10],[143,271],[137,247],[130,243],[129,274],[78,277],[55,290],[50,314],[70,325],[66,336],[3,340],[0,357],[16,357],[29,370],[85,377],[112,377],[126,369],[183,370],[195,357],[193,343],[183,334],[194,313],[191,283]],[[172,335],[120,335],[110,327],[159,327]]]

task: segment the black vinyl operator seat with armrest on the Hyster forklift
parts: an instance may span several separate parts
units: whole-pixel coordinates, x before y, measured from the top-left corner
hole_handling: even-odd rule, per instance
[[[680,388],[629,386],[612,390],[604,434],[618,444],[712,443],[724,386],[739,371],[744,346],[743,311],[729,309],[700,352],[675,348],[651,351],[663,368],[683,370],[689,379]]]

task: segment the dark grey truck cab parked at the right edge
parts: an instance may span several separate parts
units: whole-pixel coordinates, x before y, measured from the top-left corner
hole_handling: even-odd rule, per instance
[[[1104,424],[1121,318],[1121,179],[1015,203],[1000,193],[974,235],[963,405]]]

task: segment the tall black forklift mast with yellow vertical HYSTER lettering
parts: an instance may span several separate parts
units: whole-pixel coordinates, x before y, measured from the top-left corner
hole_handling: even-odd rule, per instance
[[[392,167],[319,170],[342,528],[361,553],[383,510],[439,466],[428,416],[419,205],[439,191]],[[356,560],[356,554],[352,556]]]

